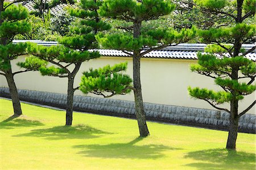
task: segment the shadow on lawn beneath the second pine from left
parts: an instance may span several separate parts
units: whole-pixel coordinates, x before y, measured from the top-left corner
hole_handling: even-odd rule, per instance
[[[102,134],[111,134],[110,132],[105,132],[98,130],[93,127],[85,125],[77,126],[56,126],[52,128],[41,128],[31,130],[27,134],[15,135],[20,136],[36,136],[43,137],[49,140],[61,140],[61,139],[90,139],[97,138]]]

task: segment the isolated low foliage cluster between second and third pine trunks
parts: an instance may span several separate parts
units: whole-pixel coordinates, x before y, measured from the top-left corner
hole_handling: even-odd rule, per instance
[[[127,63],[115,64],[113,67],[106,65],[103,68],[90,69],[89,72],[83,73],[80,90],[85,94],[94,93],[104,97],[129,93],[133,80],[122,73],[126,69]]]

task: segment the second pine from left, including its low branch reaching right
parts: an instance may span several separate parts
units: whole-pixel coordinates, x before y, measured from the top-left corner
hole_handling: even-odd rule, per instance
[[[74,80],[77,72],[81,67],[81,64],[84,61],[100,57],[99,52],[92,50],[98,47],[94,35],[96,35],[98,31],[105,31],[110,28],[109,24],[102,22],[100,16],[98,16],[97,10],[101,3],[102,1],[82,0],[80,3],[80,8],[70,9],[70,14],[72,16],[80,18],[80,24],[75,28],[72,28],[73,36],[63,37],[59,40],[59,43],[63,45],[52,47],[31,45],[28,48],[28,51],[32,55],[55,65],[51,67],[40,67],[39,71],[43,76],[68,78],[68,97],[65,125],[72,125],[73,96],[74,92],[80,88],[80,86],[74,88]],[[114,73],[124,71],[126,66],[121,64],[117,65],[115,68],[116,69],[114,70],[113,68],[104,68],[103,70],[99,69],[98,71],[93,71],[91,69],[90,73],[84,73],[85,75],[83,76],[81,82],[82,92],[100,92],[101,94],[104,94],[104,92],[113,92],[114,94],[129,93],[129,79],[127,79],[127,77],[122,73]],[[103,80],[104,77],[102,77],[100,74],[97,74],[96,72],[105,73],[104,77],[106,80]],[[125,77],[123,78],[124,81],[127,80],[126,82],[123,82],[124,85],[126,84],[125,88],[127,89],[114,89],[112,86],[113,83],[111,82],[112,79],[117,78],[115,80],[119,81],[122,76]],[[97,77],[101,78],[102,83],[105,83],[105,88],[110,86],[112,89],[102,89],[102,86],[97,84],[99,82]],[[87,78],[92,81],[88,81]],[[85,86],[88,86],[90,89],[86,88]],[[106,94],[104,97],[108,97],[108,94]]]

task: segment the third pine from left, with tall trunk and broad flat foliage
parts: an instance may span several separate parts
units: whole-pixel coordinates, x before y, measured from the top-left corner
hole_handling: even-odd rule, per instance
[[[154,49],[187,42],[195,35],[195,28],[180,32],[171,28],[143,29],[143,24],[148,20],[159,19],[174,9],[175,5],[169,0],[106,0],[98,10],[101,16],[131,23],[131,27],[123,27],[126,30],[124,33],[97,35],[97,40],[105,48],[119,49],[133,57],[135,110],[141,136],[149,135],[142,99],[141,57]]]

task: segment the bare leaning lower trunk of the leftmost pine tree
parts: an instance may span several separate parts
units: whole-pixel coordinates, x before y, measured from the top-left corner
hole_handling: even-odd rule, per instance
[[[5,77],[8,82],[9,91],[11,94],[11,100],[13,101],[14,115],[18,115],[18,116],[22,115],[22,109],[20,106],[18,90],[17,90],[15,82],[14,82],[13,73],[11,73],[11,71],[8,71],[8,72],[6,72]]]

